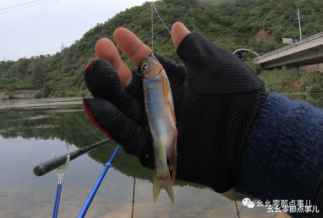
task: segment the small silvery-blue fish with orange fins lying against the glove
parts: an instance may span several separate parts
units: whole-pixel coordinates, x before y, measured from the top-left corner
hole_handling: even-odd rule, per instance
[[[160,190],[165,189],[174,205],[172,185],[175,182],[177,168],[176,117],[168,77],[153,52],[142,61],[141,77],[148,134],[153,146],[154,202],[156,203]]]

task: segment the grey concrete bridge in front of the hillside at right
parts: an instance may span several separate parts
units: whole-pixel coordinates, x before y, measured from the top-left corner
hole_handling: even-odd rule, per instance
[[[323,32],[254,59],[264,69],[323,63]]]

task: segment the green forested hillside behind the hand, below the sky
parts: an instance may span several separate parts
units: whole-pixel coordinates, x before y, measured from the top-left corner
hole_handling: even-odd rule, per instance
[[[157,11],[170,29],[181,21],[191,31],[196,30],[216,45],[234,51],[252,49],[265,54],[281,48],[282,38],[299,37],[297,4],[301,10],[302,38],[323,31],[323,1],[321,0],[236,0],[199,3],[191,0],[192,21],[187,0],[154,2]],[[95,57],[96,42],[126,27],[151,47],[151,2],[120,12],[104,24],[97,24],[76,40],[63,53],[21,58],[0,62],[0,92],[39,89],[38,97],[85,96],[89,94],[82,79],[87,63]],[[176,63],[181,63],[172,45],[171,35],[157,13],[153,12],[154,50]],[[259,34],[262,33],[262,34]],[[134,69],[130,61],[121,57]]]

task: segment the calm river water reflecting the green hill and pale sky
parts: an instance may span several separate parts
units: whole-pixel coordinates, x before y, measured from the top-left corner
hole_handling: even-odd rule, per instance
[[[287,95],[323,108],[323,96]],[[0,101],[0,218],[52,217],[57,171],[37,177],[33,167],[56,156],[105,138],[81,107],[82,98]],[[68,165],[63,180],[58,217],[77,217],[114,149],[101,146]],[[86,217],[260,217],[274,218],[266,208],[243,207],[244,196],[228,191],[218,194],[194,183],[175,181],[173,206],[162,190],[152,198],[152,170],[119,150],[86,214]],[[237,200],[237,204],[234,202]],[[254,200],[255,205],[257,200]],[[237,205],[237,206],[236,206]]]

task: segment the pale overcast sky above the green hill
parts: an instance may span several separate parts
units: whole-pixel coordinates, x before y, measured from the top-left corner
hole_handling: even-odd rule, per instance
[[[120,11],[146,2],[145,0],[0,1],[0,61],[55,54],[60,51],[62,41],[69,47],[97,23],[104,23]],[[16,5],[20,6],[13,7]]]

